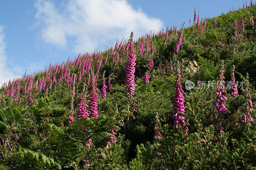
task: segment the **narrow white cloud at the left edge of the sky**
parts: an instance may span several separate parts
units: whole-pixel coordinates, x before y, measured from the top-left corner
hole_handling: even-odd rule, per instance
[[[7,67],[7,57],[6,57],[6,43],[4,42],[4,33],[3,33],[4,26],[0,25],[0,86],[5,81],[9,81],[9,79],[14,78],[15,75],[13,71]]]

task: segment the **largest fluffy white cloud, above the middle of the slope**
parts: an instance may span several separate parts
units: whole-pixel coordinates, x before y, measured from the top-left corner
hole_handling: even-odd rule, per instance
[[[63,49],[71,47],[76,53],[129,38],[131,31],[140,37],[164,25],[162,20],[133,9],[125,0],[71,0],[61,4],[61,9],[51,1],[38,0],[34,6],[41,38]]]

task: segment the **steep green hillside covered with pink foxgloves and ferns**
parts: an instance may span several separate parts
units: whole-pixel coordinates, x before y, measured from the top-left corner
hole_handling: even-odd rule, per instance
[[[256,169],[254,21],[255,4],[195,8],[188,28],[5,82],[0,169]]]

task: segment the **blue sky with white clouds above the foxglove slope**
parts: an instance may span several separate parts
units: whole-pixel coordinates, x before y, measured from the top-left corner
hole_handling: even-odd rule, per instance
[[[117,39],[165,29],[194,17],[212,18],[243,0],[3,0],[0,2],[0,85],[79,53],[104,51]],[[245,1],[246,2],[246,1]],[[255,0],[253,1],[255,3]],[[250,4],[250,0],[247,0]]]

